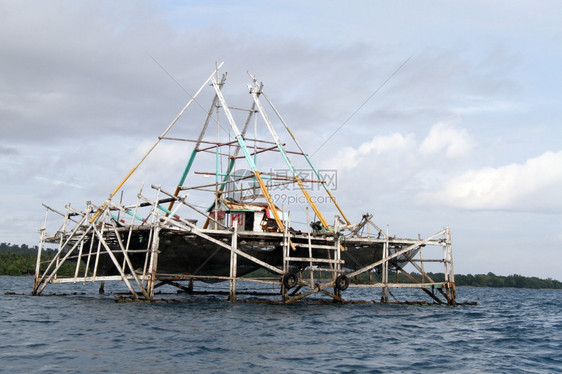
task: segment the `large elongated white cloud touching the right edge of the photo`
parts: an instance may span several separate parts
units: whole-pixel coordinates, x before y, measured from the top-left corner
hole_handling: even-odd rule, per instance
[[[524,164],[470,170],[441,191],[420,197],[464,209],[552,211],[562,209],[562,151],[546,152]]]

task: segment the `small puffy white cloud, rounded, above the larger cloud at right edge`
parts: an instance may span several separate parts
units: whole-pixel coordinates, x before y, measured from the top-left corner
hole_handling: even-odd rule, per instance
[[[473,147],[473,140],[466,129],[457,128],[454,122],[441,121],[435,124],[420,145],[422,155],[445,150],[447,157],[459,157]]]

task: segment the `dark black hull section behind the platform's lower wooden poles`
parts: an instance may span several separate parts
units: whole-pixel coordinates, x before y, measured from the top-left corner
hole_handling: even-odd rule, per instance
[[[232,234],[228,231],[217,231],[210,234],[215,240],[230,245]],[[291,238],[295,249],[289,250],[290,257],[309,258],[308,237],[297,235]],[[334,240],[331,236],[312,238],[312,256],[318,259],[329,259],[334,255]],[[148,268],[147,243],[149,231],[136,231],[131,238],[128,257],[135,271],[141,273]],[[96,245],[96,243],[94,243]],[[314,245],[328,246],[332,249],[318,248]],[[110,245],[114,258],[120,266],[125,263],[122,251],[117,245]],[[380,241],[364,242],[342,241],[341,259],[346,271],[354,271],[380,261],[383,257],[383,243]],[[271,266],[283,268],[283,237],[280,234],[239,233],[237,248]],[[221,277],[230,275],[231,252],[212,241],[193,233],[177,231],[161,231],[158,245],[157,272],[162,275],[196,275]],[[404,256],[394,261],[394,265],[407,261]],[[292,261],[291,271],[296,272],[310,265],[309,261]],[[114,260],[106,251],[100,252],[99,260],[89,264],[90,271],[96,268],[99,275],[118,275],[119,271]],[[259,269],[261,266],[243,256],[237,258],[237,276],[243,276]],[[380,268],[380,266],[379,266]],[[126,267],[127,271],[128,266]]]

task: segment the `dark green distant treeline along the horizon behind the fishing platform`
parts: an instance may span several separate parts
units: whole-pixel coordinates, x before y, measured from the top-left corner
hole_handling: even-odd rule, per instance
[[[0,243],[0,275],[33,275],[35,274],[35,262],[37,258],[37,246],[29,247],[25,244],[21,246],[9,243]],[[42,260],[52,259],[56,250],[46,249],[41,255]],[[63,264],[61,275],[74,273],[75,263]],[[420,274],[412,274],[418,281],[421,280]],[[445,279],[443,273],[428,273],[435,282],[442,282]],[[391,276],[390,279],[395,279]],[[399,275],[399,282],[410,282],[403,275]],[[427,282],[427,280],[426,280]],[[508,276],[488,274],[455,274],[457,286],[473,287],[514,287],[514,288],[551,288],[562,289],[562,282],[547,278],[525,277],[514,274]]]

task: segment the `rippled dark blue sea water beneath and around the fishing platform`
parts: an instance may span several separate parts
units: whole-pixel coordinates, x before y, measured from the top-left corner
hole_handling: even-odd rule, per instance
[[[116,303],[109,283],[105,295],[71,284],[45,292],[76,294],[34,297],[32,284],[0,277],[1,372],[562,372],[560,290],[459,287],[458,301],[478,305],[457,307],[265,305],[224,296]],[[423,299],[417,292],[406,296]],[[344,297],[377,300],[380,291]]]

